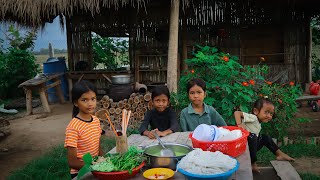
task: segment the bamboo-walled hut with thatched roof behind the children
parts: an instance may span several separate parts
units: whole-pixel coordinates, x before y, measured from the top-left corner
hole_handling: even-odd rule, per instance
[[[310,19],[317,0],[0,0],[3,21],[29,26],[66,19],[69,77],[133,74],[176,91],[195,44],[219,47],[254,66],[268,59],[270,78],[311,81]],[[92,32],[130,41],[130,71],[92,70]],[[89,70],[75,71],[79,61]]]

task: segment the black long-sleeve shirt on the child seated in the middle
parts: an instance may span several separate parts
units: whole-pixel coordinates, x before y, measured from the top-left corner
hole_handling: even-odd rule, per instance
[[[154,108],[147,111],[139,129],[140,133],[143,134],[145,130],[148,130],[149,125],[151,129],[158,128],[159,131],[167,129],[171,129],[173,132],[179,131],[176,113],[171,108],[167,108],[163,112],[159,112]]]

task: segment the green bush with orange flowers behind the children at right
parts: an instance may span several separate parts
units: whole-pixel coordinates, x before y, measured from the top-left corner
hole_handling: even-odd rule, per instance
[[[235,110],[251,112],[255,100],[268,96],[275,104],[277,116],[265,125],[264,131],[273,137],[286,135],[287,128],[296,122],[293,117],[297,111],[295,99],[301,94],[299,86],[293,82],[278,85],[266,81],[267,65],[243,67],[236,56],[208,46],[198,48],[194,57],[186,60],[190,70],[181,75],[178,93],[173,95],[171,102],[176,108],[182,109],[189,103],[187,82],[202,78],[207,85],[205,103],[212,105],[229,125],[235,125]]]

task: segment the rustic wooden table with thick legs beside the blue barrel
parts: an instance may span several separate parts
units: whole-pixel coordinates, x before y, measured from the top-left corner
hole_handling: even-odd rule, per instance
[[[46,113],[50,113],[50,107],[47,100],[47,90],[55,87],[57,96],[60,99],[61,103],[64,103],[64,97],[61,89],[61,80],[59,77],[64,73],[53,73],[46,74],[44,77],[29,79],[23,83],[21,83],[18,87],[23,87],[26,93],[26,106],[27,106],[27,114],[32,114],[32,91],[38,91],[40,95],[40,100],[43,106],[43,110]],[[53,83],[46,85],[48,81],[52,80]]]

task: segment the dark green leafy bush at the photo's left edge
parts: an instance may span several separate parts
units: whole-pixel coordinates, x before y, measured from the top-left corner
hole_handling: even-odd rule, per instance
[[[17,29],[10,26],[7,38],[10,47],[0,49],[0,94],[1,98],[15,98],[23,96],[23,90],[18,89],[18,85],[39,72],[35,57],[29,50],[33,47],[35,33],[27,32],[23,37]]]

